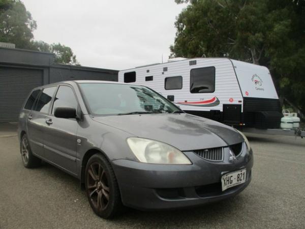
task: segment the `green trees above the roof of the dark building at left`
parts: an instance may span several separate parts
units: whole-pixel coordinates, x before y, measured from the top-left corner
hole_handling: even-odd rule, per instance
[[[31,13],[19,0],[0,0],[0,41],[14,43],[17,48],[32,49],[55,54],[59,64],[79,65],[70,47],[35,41],[33,32],[37,24]]]

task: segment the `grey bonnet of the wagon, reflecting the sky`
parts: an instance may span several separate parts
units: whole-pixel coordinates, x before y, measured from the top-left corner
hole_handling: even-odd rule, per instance
[[[181,151],[224,147],[243,141],[224,124],[186,113],[94,117],[95,121],[137,137],[154,139]]]

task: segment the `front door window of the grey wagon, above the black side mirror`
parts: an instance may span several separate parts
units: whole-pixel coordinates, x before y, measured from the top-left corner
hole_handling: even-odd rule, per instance
[[[53,103],[52,113],[58,106],[69,106],[77,109],[77,100],[72,88],[68,86],[59,86]]]

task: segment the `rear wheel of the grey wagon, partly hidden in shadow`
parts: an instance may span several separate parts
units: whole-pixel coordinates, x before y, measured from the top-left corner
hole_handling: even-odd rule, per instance
[[[32,153],[26,134],[23,134],[20,140],[20,153],[24,167],[35,168],[41,165],[41,159]]]

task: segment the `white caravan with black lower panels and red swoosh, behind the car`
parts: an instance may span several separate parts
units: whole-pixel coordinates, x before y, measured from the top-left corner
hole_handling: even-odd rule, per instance
[[[193,115],[229,125],[280,127],[279,97],[263,66],[194,58],[122,70],[118,81],[145,85]]]

